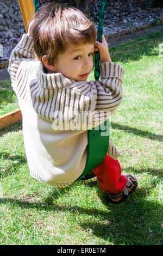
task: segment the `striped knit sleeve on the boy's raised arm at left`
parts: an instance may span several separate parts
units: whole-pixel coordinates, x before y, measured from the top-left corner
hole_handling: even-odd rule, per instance
[[[15,80],[17,70],[23,60],[33,60],[34,59],[34,47],[33,38],[27,34],[22,36],[21,41],[17,44],[14,50],[11,52],[9,59],[8,72],[11,77],[12,87],[15,87]]]

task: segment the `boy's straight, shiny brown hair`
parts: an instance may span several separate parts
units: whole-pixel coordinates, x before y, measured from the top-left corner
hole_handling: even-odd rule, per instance
[[[34,50],[40,61],[43,55],[47,55],[47,62],[54,63],[70,43],[94,44],[96,41],[93,22],[76,8],[46,4],[40,7],[35,20]]]

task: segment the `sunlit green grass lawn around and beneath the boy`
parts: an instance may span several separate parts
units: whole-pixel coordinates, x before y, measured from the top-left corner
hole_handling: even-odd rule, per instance
[[[122,172],[137,177],[136,191],[114,205],[106,203],[96,178],[64,189],[34,180],[20,121],[0,131],[1,245],[163,244],[163,31],[110,48],[110,54],[126,70],[110,138],[121,152]],[[10,81],[0,83],[0,93],[1,115],[18,108]]]

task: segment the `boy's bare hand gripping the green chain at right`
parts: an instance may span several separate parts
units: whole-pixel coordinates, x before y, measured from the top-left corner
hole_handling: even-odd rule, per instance
[[[101,42],[98,42],[98,41],[95,42],[95,52],[96,51],[99,51],[101,63],[111,62],[111,58],[108,50],[108,43],[106,42],[104,35],[102,36]]]

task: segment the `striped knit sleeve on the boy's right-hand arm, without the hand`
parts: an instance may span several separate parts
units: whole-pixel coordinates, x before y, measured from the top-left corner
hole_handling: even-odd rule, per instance
[[[68,86],[74,92],[76,100],[74,109],[78,113],[86,113],[86,128],[102,124],[122,102],[122,77],[124,69],[116,63],[101,64],[100,81],[79,81]],[[77,97],[78,96],[78,97]],[[71,99],[71,103],[73,103]]]

